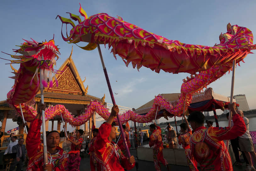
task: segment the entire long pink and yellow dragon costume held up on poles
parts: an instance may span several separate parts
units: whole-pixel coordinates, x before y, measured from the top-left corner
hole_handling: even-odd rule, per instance
[[[162,69],[169,73],[186,72],[191,74],[191,77],[183,79],[181,96],[177,102],[171,104],[157,96],[151,110],[146,115],[141,116],[127,111],[120,115],[122,123],[128,120],[139,123],[150,122],[154,119],[157,106],[159,109],[165,109],[172,116],[181,116],[184,106],[186,111],[195,92],[202,91],[207,85],[230,71],[233,60],[236,60],[239,65],[239,62],[243,61],[243,58],[251,53],[251,50],[256,49],[256,46],[253,45],[252,32],[238,25],[228,24],[227,32],[219,36],[220,44],[210,47],[169,40],[127,23],[121,17],[114,18],[105,13],[87,17],[81,7],[79,12],[84,17],[83,20],[79,16],[69,13],[71,19],[78,21],[77,25],[71,19],[57,16],[62,24],[70,24],[73,27],[69,36],[64,37],[62,34],[64,41],[69,43],[89,42],[87,46],[81,47],[85,50],[93,50],[97,44],[108,44],[109,48],[112,47],[111,52],[114,57],[118,54],[126,66],[132,63],[132,66],[137,69],[144,66],[157,73]],[[38,91],[38,78],[40,77],[38,69],[44,68],[42,75],[45,80],[44,86],[52,86],[52,66],[55,62],[54,57],[58,58],[58,48],[54,45],[53,40],[42,43],[26,41],[19,50],[14,52],[22,55],[11,55],[18,59],[11,60],[11,63],[20,63],[20,69],[14,72],[15,76],[12,77],[15,79],[15,83],[13,89],[8,93],[8,102],[18,113],[20,113],[18,104],[22,103],[25,119],[31,121],[35,118],[36,113],[30,104],[33,104],[33,97]],[[41,60],[42,56],[44,60]],[[48,85],[47,77],[49,78]],[[61,112],[64,120],[76,126],[84,124],[94,111],[104,119],[107,119],[110,114],[108,109],[97,101],[91,102],[86,112],[77,118],[69,113],[63,105],[51,106],[45,111],[45,114],[46,119],[51,119],[55,115],[60,115]]]

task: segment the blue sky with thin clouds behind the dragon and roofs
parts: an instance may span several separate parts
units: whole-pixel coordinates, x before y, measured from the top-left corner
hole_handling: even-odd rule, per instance
[[[57,15],[68,18],[66,12],[79,15],[79,2],[88,16],[97,13],[107,13],[110,16],[121,16],[125,21],[135,24],[145,30],[164,36],[170,40],[179,40],[188,44],[213,46],[219,43],[219,35],[226,32],[226,25],[240,25],[256,33],[256,2],[255,1],[3,1],[0,6],[1,41],[0,51],[14,54],[12,49],[24,41],[22,39],[40,42],[53,38],[60,48],[58,69],[69,57],[71,46],[61,37],[61,22],[55,19]],[[80,43],[81,46],[86,45]],[[122,59],[117,60],[110,50],[101,46],[103,58],[109,73],[109,79],[118,105],[138,108],[160,93],[178,93],[182,79],[189,74],[170,74],[161,71],[159,74],[150,69],[133,69],[125,66]],[[10,56],[1,53],[1,58]],[[88,94],[103,97],[112,103],[106,80],[103,74],[97,49],[84,51],[74,46],[73,60],[85,86],[89,85]],[[249,54],[245,63],[236,69],[234,95],[245,94],[250,109],[255,104],[255,54]],[[14,84],[13,76],[7,61],[0,60],[0,100],[6,99],[6,94]],[[16,69],[19,65],[13,65]],[[118,82],[116,82],[116,80]],[[220,80],[212,83],[214,92],[230,96],[231,74],[226,74]],[[161,119],[164,121],[164,119]],[[11,122],[11,121],[8,121]],[[17,124],[8,124],[7,129]]]

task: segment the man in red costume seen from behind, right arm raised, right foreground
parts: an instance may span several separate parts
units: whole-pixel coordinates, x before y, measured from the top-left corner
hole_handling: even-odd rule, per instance
[[[188,116],[188,121],[194,131],[190,138],[191,154],[200,164],[202,171],[233,170],[231,158],[223,140],[234,139],[246,131],[244,121],[237,114],[235,107],[235,103],[229,104],[233,115],[234,126],[232,127],[205,128],[202,112],[193,112]]]

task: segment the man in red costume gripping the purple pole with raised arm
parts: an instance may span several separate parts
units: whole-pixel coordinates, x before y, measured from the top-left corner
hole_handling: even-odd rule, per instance
[[[122,171],[124,168],[131,170],[135,166],[134,157],[125,157],[119,146],[112,141],[116,138],[115,122],[113,121],[118,112],[118,106],[114,105],[109,119],[99,128],[94,143],[98,171]]]

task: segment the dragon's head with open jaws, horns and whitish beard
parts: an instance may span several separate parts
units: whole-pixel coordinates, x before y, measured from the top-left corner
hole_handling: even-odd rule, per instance
[[[24,40],[24,39],[23,39]],[[55,57],[58,59],[59,49],[54,44],[54,40],[50,41],[42,41],[39,43],[37,41],[27,41],[21,44],[19,49],[13,49],[14,52],[20,53],[21,55],[10,55],[12,58],[17,60],[9,60],[11,63],[20,63],[27,70],[35,73],[33,78],[38,77],[39,69],[40,77],[44,87],[48,86],[49,79],[49,87],[53,86],[53,66],[56,65]],[[4,53],[4,52],[3,52]],[[6,53],[7,54],[7,53]],[[31,79],[31,84],[32,80]],[[57,79],[56,83],[57,83]],[[37,84],[39,84],[39,79],[37,79]],[[58,84],[58,83],[57,83]]]

